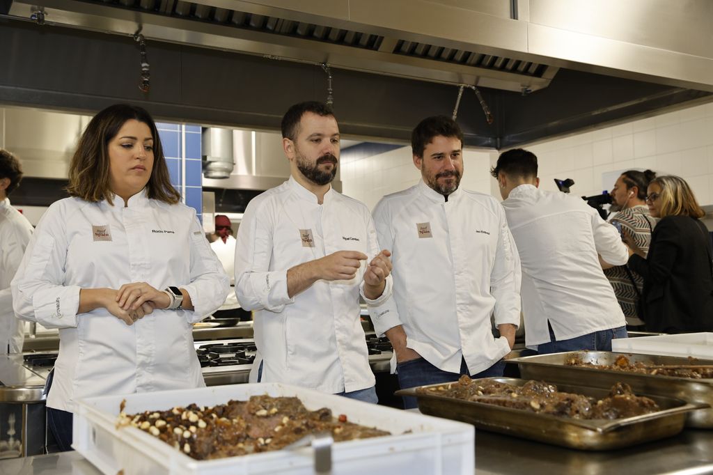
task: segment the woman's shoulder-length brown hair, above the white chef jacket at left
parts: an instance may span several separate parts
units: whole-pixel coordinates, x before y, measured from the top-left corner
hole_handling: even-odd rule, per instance
[[[113,203],[109,188],[108,144],[130,120],[145,123],[153,137],[153,170],[146,184],[148,198],[175,204],[180,194],[173,188],[156,124],[145,109],[128,104],[114,104],[92,118],[85,129],[69,165],[67,192],[89,202]]]

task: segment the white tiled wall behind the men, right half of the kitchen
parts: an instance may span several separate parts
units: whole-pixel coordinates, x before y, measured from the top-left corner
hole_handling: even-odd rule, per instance
[[[557,190],[554,178],[572,178],[574,195],[598,195],[611,190],[617,176],[612,172],[650,168],[660,175],[682,176],[700,205],[713,204],[713,103],[523,148],[538,156],[543,190]],[[499,199],[496,180],[488,173],[497,159],[494,150],[466,150],[461,186]],[[411,147],[344,160],[341,168],[344,194],[370,209],[381,196],[408,188],[420,178],[411,160]],[[607,178],[604,183],[602,175],[614,179]]]

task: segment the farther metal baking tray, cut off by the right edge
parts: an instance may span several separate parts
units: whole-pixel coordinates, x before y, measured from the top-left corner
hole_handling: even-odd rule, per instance
[[[518,364],[520,377],[526,379],[544,379],[554,384],[582,384],[610,388],[615,382],[629,384],[634,392],[658,394],[665,397],[683,399],[687,402],[701,402],[713,407],[713,379],[692,379],[674,376],[636,374],[612,369],[568,366],[565,364],[571,355],[578,355],[583,362],[593,364],[614,364],[623,354],[630,362],[644,364],[713,364],[710,359],[696,359],[694,363],[684,357],[658,356],[652,354],[632,354],[617,352],[565,352],[540,354],[530,357],[508,359],[511,364]],[[689,412],[686,421],[689,427],[713,429],[713,409]]]

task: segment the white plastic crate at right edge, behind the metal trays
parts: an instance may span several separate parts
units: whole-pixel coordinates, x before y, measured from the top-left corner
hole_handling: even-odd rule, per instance
[[[662,334],[612,339],[612,351],[713,359],[713,333]]]

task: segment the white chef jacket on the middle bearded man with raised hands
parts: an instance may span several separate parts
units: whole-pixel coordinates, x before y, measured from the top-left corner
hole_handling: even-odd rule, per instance
[[[290,298],[287,270],[339,250],[379,253],[374,223],[363,203],[332,188],[324,203],[294,178],[253,198],[237,232],[235,292],[255,312],[257,358],[250,381],[284,382],[327,393],[374,386],[359,318],[359,284],[318,280]],[[384,299],[391,292],[388,278]],[[378,301],[378,299],[376,300]]]

